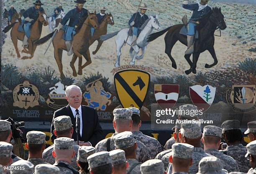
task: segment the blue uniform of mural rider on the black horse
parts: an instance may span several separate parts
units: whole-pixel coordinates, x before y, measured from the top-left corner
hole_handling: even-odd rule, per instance
[[[193,4],[182,4],[182,7],[187,9],[187,10],[192,10],[193,14],[192,17],[190,18],[188,22],[188,33],[187,35],[195,35],[195,27],[200,23],[200,20],[204,18],[206,15],[211,13],[212,9],[206,5],[205,8],[202,10],[199,10],[199,4],[198,3],[193,3]]]

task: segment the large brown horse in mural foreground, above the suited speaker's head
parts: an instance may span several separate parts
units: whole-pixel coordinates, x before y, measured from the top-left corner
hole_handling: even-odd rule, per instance
[[[87,18],[85,20],[81,20],[80,23],[78,24],[78,26],[81,26],[81,27],[76,28],[76,34],[74,35],[73,41],[72,41],[72,48],[74,51],[74,55],[73,55],[72,61],[70,62],[70,67],[73,70],[73,74],[74,74],[74,72],[76,74],[74,63],[75,63],[77,57],[81,58],[81,59],[79,59],[79,64],[82,64],[82,56],[84,56],[84,58],[87,61],[83,66],[79,67],[79,71],[78,71],[79,74],[82,74],[82,69],[92,62],[91,57],[90,57],[90,52],[89,52],[89,46],[90,46],[89,38],[91,35],[91,33],[90,33],[91,27],[97,29],[99,26],[99,24],[97,22],[97,17],[96,17],[96,11],[94,13],[88,12]],[[60,30],[53,39],[54,58],[57,62],[61,79],[65,78],[65,75],[63,73],[63,66],[62,66],[62,62],[61,62],[62,52],[63,52],[63,50],[67,51],[65,41],[62,38],[63,33],[64,33],[64,31]],[[54,34],[54,32],[48,34],[44,38],[41,38],[40,40],[38,40],[36,42],[36,44],[41,45],[41,44],[46,43],[46,41],[48,41],[53,36],[53,34]]]

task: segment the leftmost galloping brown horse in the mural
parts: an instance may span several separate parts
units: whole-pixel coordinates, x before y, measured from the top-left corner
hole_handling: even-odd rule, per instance
[[[32,27],[31,27],[31,36],[30,38],[28,38],[28,50],[26,48],[24,48],[22,50],[23,53],[28,53],[31,56],[23,56],[22,59],[32,59],[34,56],[34,52],[36,50],[36,44],[34,44],[34,42],[36,40],[38,40],[41,37],[41,33],[42,33],[42,27],[47,26],[48,22],[46,20],[46,14],[44,13],[44,11],[42,12],[38,12],[38,18],[36,20],[35,23],[33,23]],[[20,58],[20,52],[18,50],[18,40],[23,41],[25,33],[18,31],[18,27],[20,26],[20,22],[15,22],[12,23],[10,26],[7,26],[3,32],[7,33],[10,28],[12,28],[11,30],[11,38],[13,41],[13,45],[15,48],[15,51],[17,53],[18,58]]]

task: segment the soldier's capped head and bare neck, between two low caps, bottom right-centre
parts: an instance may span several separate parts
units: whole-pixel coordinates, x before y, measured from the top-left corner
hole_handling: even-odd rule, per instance
[[[170,162],[172,163],[174,174],[188,174],[189,166],[192,165],[192,156],[194,146],[187,143],[175,143],[172,145],[172,155]]]

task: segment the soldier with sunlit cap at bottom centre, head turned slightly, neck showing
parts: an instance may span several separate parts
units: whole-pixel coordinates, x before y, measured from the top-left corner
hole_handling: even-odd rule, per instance
[[[133,133],[125,131],[118,133],[114,137],[116,148],[125,151],[125,158],[129,166],[126,169],[127,174],[141,174],[140,166],[141,162],[136,159],[137,143],[133,138]]]

